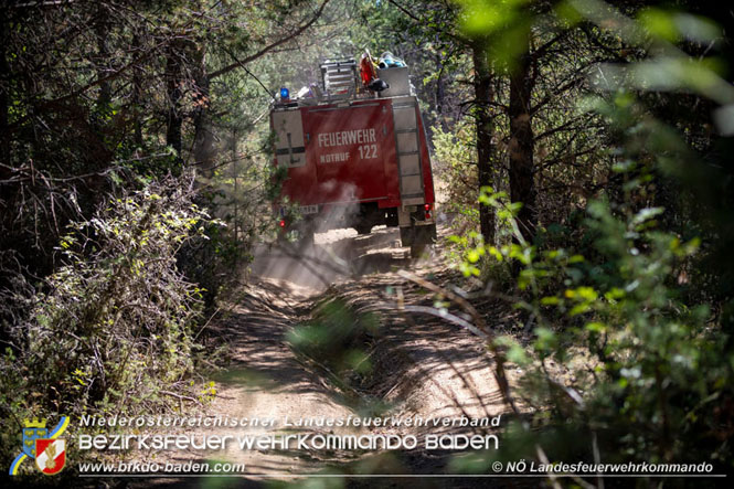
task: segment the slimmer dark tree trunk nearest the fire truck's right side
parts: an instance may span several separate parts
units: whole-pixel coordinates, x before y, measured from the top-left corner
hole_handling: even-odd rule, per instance
[[[479,40],[472,46],[474,57],[474,89],[476,98],[477,120],[477,170],[479,177],[479,189],[482,187],[494,187],[494,172],[492,169],[492,157],[494,146],[492,143],[492,117],[489,111],[489,102],[492,93],[492,72],[489,65],[489,53],[483,41]],[[479,206],[479,228],[485,243],[494,242],[494,209],[489,205]]]

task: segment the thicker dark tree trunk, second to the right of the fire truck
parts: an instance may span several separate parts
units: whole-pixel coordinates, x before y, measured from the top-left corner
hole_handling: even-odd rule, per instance
[[[535,184],[533,181],[533,127],[531,94],[535,85],[529,53],[530,30],[526,32],[523,54],[510,68],[510,200],[522,202],[517,216],[518,226],[526,241],[535,234],[536,208]]]

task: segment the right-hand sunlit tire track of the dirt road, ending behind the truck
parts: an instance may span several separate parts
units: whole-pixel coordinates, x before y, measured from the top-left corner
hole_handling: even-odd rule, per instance
[[[400,308],[401,304],[433,308],[434,298],[418,285],[397,275],[397,269],[409,268],[442,286],[457,281],[459,274],[447,272],[446,262],[440,256],[418,262],[407,259],[407,252],[396,246],[396,240],[391,230],[377,230],[368,238],[340,235],[329,241],[331,251],[351,264],[351,276],[341,275],[337,285],[313,296],[320,300],[338,298],[358,313],[380,315],[381,330],[370,352],[374,372],[368,384],[357,385],[357,390],[392,406],[387,413],[390,416],[482,418],[507,413],[493,376],[493,361],[477,337],[440,318]],[[502,320],[508,322],[508,316],[513,313],[508,309],[499,302],[485,305],[485,310],[494,311],[490,318],[496,317],[498,321],[501,313],[504,316]],[[453,312],[460,313],[454,309]],[[517,376],[515,372],[509,372],[509,376]],[[400,427],[377,432],[419,437],[426,434],[494,433],[491,428],[457,426]],[[440,472],[446,469],[449,455],[414,450],[402,457],[407,466],[403,463],[395,465],[394,460],[387,465],[411,472]]]

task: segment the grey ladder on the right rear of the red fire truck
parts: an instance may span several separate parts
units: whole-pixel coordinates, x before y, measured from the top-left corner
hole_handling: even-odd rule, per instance
[[[403,206],[425,202],[417,113],[415,98],[393,102],[393,126]]]

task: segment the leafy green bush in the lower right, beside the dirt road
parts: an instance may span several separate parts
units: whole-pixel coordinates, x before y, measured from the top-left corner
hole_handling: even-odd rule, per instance
[[[482,200],[507,211],[499,198]],[[477,256],[519,265],[517,306],[538,325],[532,353],[510,337],[497,346],[523,366],[520,395],[539,410],[534,422],[553,433],[544,447],[556,455],[570,447],[559,432],[566,425],[597,432],[606,461],[731,460],[716,432],[727,419],[717,406],[734,396],[734,355],[711,323],[711,306],[681,300],[681,274],[701,243],[661,231],[662,212],[619,215],[594,201],[584,226],[588,248],[539,251],[515,230],[515,243],[482,244],[466,255],[471,272]],[[564,389],[576,391],[581,404],[557,387],[553,364],[565,365]]]

